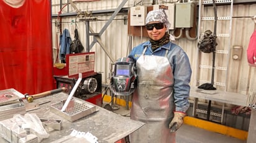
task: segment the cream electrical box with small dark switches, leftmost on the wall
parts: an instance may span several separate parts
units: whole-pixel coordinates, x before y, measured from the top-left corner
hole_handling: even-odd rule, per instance
[[[145,6],[130,7],[130,25],[131,26],[144,26],[146,16],[147,16],[147,7]]]

